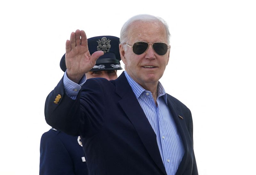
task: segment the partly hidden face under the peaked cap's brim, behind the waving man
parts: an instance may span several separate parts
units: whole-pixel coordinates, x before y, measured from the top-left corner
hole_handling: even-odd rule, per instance
[[[117,78],[116,70],[99,70],[90,71],[86,73],[86,79],[89,78],[106,78],[109,80],[115,80]]]

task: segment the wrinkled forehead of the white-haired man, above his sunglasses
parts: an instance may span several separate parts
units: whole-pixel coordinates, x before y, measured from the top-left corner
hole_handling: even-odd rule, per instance
[[[128,29],[128,36],[129,42],[154,41],[167,43],[164,24],[158,21],[134,21]]]

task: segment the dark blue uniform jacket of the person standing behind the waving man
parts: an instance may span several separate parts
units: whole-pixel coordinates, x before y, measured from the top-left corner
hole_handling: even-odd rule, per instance
[[[87,175],[77,136],[50,129],[41,137],[39,175]]]

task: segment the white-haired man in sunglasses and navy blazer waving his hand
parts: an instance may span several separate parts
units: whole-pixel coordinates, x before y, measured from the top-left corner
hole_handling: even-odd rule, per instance
[[[71,33],[67,71],[46,99],[45,119],[81,136],[89,174],[198,174],[190,110],[159,82],[169,61],[169,36],[164,20],[132,17],[120,34],[125,71],[114,81],[85,82],[104,52],[91,55],[84,31]]]

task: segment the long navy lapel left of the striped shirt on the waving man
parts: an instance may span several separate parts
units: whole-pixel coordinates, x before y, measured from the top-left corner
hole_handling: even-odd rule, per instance
[[[142,108],[140,107],[140,104],[126,79],[124,72],[116,80],[116,93],[122,97],[119,104],[123,108],[129,120],[132,122],[149,155],[152,157],[159,169],[166,174],[157,145],[156,134],[148,122]]]

